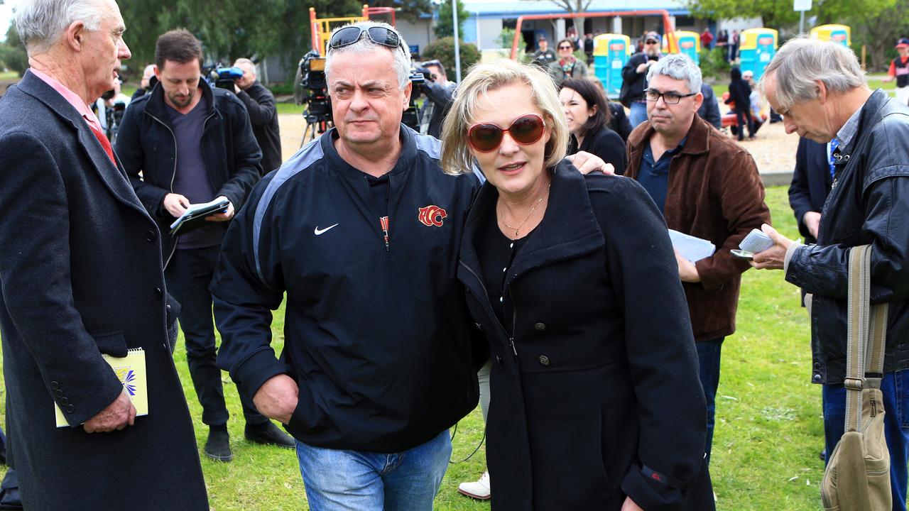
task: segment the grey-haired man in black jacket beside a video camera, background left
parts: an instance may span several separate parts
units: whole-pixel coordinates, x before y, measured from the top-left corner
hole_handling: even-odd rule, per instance
[[[238,58],[234,63],[243,69],[243,76],[236,81],[234,92],[246,105],[249,122],[253,125],[255,141],[262,149],[262,174],[281,166],[281,131],[278,127],[278,110],[275,95],[257,79],[255,64],[248,58]]]

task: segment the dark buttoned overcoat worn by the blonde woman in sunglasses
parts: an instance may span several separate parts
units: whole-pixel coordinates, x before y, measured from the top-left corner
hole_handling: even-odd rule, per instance
[[[556,166],[505,276],[509,336],[477,256],[497,196],[488,182],[477,195],[458,271],[493,360],[493,508],[618,510],[631,496],[648,511],[713,509],[694,338],[654,202],[631,179]]]

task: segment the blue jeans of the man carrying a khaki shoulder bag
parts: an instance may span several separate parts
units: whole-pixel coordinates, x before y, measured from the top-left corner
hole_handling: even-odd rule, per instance
[[[881,381],[884,394],[884,436],[890,451],[890,487],[894,511],[906,510],[906,464],[909,463],[909,369],[887,373]],[[843,436],[846,416],[846,390],[842,384],[825,385],[824,440],[827,459]]]

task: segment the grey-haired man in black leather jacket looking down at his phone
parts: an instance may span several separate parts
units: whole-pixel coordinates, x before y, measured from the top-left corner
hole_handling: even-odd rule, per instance
[[[774,246],[755,254],[753,266],[783,269],[788,282],[814,295],[812,381],[824,385],[824,436],[832,453],[844,432],[848,251],[872,245],[871,301],[888,306],[880,387],[893,508],[902,511],[909,461],[903,390],[909,386],[909,107],[872,92],[852,50],[804,37],[780,48],[763,85],[786,132],[834,145],[834,182],[821,218],[835,221],[821,221],[816,245],[764,225]]]

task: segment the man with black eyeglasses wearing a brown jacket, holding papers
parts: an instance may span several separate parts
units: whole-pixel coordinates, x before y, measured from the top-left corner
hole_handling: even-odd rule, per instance
[[[735,331],[742,273],[748,263],[729,252],[745,235],[770,223],[764,185],[741,145],[697,115],[704,100],[701,69],[687,55],[667,55],[647,72],[649,124],[628,137],[625,175],[653,197],[670,229],[705,239],[713,255],[679,266],[707,398],[706,461],[714,434],[720,349]]]

